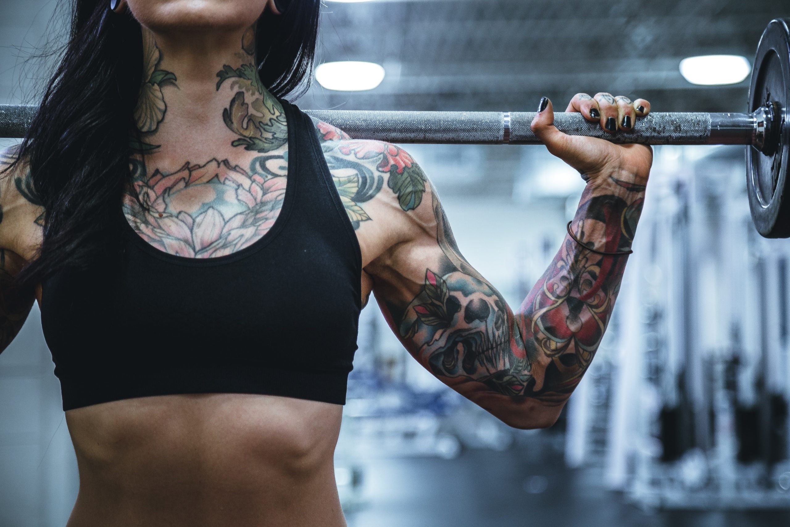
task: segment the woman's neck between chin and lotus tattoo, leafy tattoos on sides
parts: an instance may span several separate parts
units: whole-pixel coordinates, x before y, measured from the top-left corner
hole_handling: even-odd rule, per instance
[[[143,28],[143,84],[134,112],[155,162],[197,162],[207,147],[231,157],[287,141],[283,109],[261,83],[254,28],[184,36]]]

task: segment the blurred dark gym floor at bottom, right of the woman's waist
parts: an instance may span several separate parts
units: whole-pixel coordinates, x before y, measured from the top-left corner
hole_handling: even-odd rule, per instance
[[[511,450],[467,450],[453,460],[381,458],[364,467],[349,527],[786,527],[788,510],[642,510],[601,487],[600,469],[567,469],[540,435]],[[544,481],[536,486],[532,482]],[[532,491],[530,491],[532,490]],[[540,492],[536,492],[540,491]]]

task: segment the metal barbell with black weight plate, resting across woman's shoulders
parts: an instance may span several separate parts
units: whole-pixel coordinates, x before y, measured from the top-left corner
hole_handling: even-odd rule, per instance
[[[609,134],[578,113],[555,113],[555,126],[572,135],[618,144],[747,145],[747,194],[752,220],[766,238],[790,237],[787,186],[790,126],[790,19],[771,21],[760,37],[745,113],[651,113],[632,130]],[[24,137],[35,106],[0,105],[0,137]],[[540,145],[529,124],[534,112],[307,111],[356,139],[392,143]]]

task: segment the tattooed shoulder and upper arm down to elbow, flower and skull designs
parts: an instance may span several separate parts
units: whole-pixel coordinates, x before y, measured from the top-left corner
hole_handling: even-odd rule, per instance
[[[483,408],[531,393],[534,343],[501,294],[458,250],[446,214],[415,160],[382,141],[349,139],[318,123],[373,292],[397,337],[428,371]],[[501,401],[499,401],[501,402]]]

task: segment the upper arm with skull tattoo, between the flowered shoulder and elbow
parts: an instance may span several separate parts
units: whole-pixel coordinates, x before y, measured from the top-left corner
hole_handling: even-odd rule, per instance
[[[389,325],[423,367],[468,397],[523,393],[529,362],[513,312],[458,250],[430,185],[410,215],[407,241],[371,266]]]

